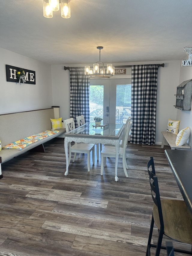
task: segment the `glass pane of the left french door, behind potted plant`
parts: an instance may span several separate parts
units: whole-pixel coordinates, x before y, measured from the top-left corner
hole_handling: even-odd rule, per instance
[[[95,122],[95,116],[104,118],[104,86],[90,85],[89,86],[89,108],[90,122]],[[101,121],[103,123],[103,121]]]

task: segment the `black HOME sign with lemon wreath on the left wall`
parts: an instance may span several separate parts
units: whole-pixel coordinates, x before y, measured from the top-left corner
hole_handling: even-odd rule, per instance
[[[5,67],[7,82],[35,84],[35,71],[10,65],[5,65]],[[23,79],[20,79],[19,81],[18,72],[21,70],[24,71]]]

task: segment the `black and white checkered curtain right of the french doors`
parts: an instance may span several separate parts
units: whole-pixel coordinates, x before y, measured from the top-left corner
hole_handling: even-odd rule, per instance
[[[154,145],[159,64],[131,67],[131,143]]]

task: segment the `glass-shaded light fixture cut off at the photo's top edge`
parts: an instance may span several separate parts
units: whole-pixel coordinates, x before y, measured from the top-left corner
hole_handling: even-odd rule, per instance
[[[71,16],[70,0],[43,0],[43,16],[53,17],[53,11],[59,10],[61,4],[61,17],[68,19]]]

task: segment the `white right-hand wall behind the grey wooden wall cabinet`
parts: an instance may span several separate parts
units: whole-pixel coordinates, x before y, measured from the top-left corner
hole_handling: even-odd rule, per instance
[[[180,63],[180,67],[181,67],[181,63]],[[177,84],[177,86],[182,82],[190,79],[192,79],[192,67],[181,67],[180,75],[179,75],[179,83]],[[176,94],[176,91],[177,91],[177,88],[175,88],[174,94]],[[190,134],[188,143],[192,147],[192,108],[191,110],[177,109],[176,120],[180,120],[179,131],[187,126],[190,127],[191,134]]]

